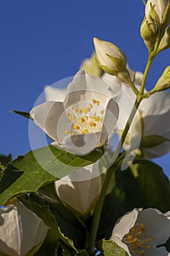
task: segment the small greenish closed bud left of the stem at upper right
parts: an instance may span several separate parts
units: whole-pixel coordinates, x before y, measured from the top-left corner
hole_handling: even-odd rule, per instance
[[[156,20],[151,16],[144,18],[140,31],[145,45],[147,48],[152,50],[155,46],[155,42],[158,36],[158,26]]]

